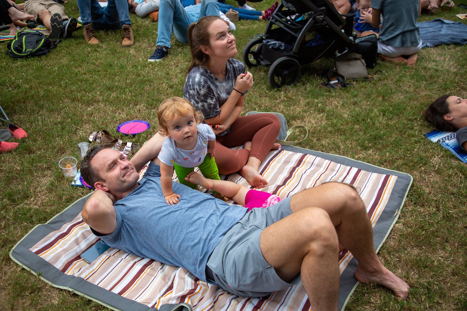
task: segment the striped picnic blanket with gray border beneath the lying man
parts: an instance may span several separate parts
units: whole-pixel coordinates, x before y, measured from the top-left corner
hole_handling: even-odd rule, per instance
[[[263,190],[282,198],[331,180],[353,184],[374,226],[377,250],[394,225],[412,182],[405,173],[291,146],[269,152],[261,173],[269,180]],[[238,174],[225,178],[248,186]],[[92,263],[85,263],[80,254],[99,241],[81,218],[87,197],[34,228],[12,249],[10,257],[48,283],[114,310],[149,310],[180,302],[203,311],[311,310],[301,283],[267,297],[245,298],[200,281],[182,268],[119,249],[110,248]],[[358,283],[352,258],[348,252],[340,256],[339,310],[344,309]]]

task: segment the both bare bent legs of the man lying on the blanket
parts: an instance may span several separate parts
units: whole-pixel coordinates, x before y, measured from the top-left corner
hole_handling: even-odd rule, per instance
[[[295,194],[290,207],[293,214],[263,230],[261,250],[283,280],[301,272],[314,310],[337,308],[338,242],[359,262],[355,271],[359,281],[384,285],[397,297],[407,298],[409,285],[376,256],[371,223],[354,189],[326,183]]]

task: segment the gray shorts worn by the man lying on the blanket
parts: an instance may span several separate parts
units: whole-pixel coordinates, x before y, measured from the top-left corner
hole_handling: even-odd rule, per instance
[[[212,271],[208,282],[241,297],[263,297],[297,284],[299,275],[291,283],[284,282],[260,249],[262,230],[290,214],[290,197],[245,214],[212,251],[206,269]]]

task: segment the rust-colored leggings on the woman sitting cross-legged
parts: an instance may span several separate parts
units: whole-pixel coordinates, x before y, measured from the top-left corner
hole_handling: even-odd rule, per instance
[[[215,159],[219,173],[227,175],[240,171],[249,157],[258,158],[262,162],[273,147],[280,129],[281,122],[272,113],[238,117],[227,135],[217,137]],[[229,149],[247,141],[251,141],[251,152],[247,149]]]

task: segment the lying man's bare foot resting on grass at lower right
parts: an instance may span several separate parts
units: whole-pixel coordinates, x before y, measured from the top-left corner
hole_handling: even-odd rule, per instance
[[[410,286],[403,279],[397,277],[394,273],[388,269],[382,267],[381,273],[371,274],[363,271],[360,266],[355,270],[355,277],[361,283],[376,283],[379,285],[386,286],[390,290],[394,291],[394,294],[398,299],[406,300],[409,295]]]

